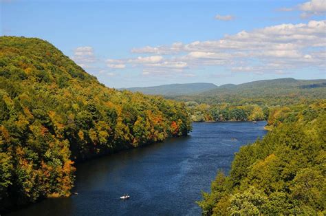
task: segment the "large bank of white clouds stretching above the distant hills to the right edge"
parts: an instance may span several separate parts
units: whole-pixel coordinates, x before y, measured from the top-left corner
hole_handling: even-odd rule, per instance
[[[186,69],[222,65],[231,72],[285,73],[298,67],[325,68],[326,21],[281,24],[252,31],[243,30],[215,41],[140,47],[133,52],[161,54],[124,60],[153,71],[180,72]],[[122,60],[115,60],[118,63]],[[185,72],[186,73],[186,72]],[[143,73],[144,74],[144,73]]]

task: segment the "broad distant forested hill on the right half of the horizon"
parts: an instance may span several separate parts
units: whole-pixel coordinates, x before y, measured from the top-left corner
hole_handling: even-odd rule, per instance
[[[326,98],[326,80],[296,80],[294,78],[259,80],[240,85],[221,85],[199,94],[168,96],[167,98],[207,104],[221,102],[234,105],[298,104],[303,100]]]

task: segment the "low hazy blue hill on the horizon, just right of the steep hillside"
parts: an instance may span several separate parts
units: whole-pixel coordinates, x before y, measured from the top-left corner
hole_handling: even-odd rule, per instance
[[[162,96],[180,96],[189,94],[198,94],[203,91],[217,88],[212,83],[188,83],[188,84],[171,84],[159,85],[152,87],[133,87],[127,88],[129,91],[139,91],[143,94],[162,95]]]

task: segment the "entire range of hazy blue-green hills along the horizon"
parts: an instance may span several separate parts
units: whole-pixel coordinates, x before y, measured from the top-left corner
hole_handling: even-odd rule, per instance
[[[241,93],[246,96],[259,96],[261,94],[274,95],[275,93],[287,94],[290,91],[302,91],[302,89],[316,89],[326,87],[326,80],[296,80],[294,78],[279,78],[274,80],[258,80],[239,85],[226,84],[217,86],[213,83],[187,83],[158,85],[152,87],[132,87],[129,91],[139,91],[143,94],[162,96],[216,96],[219,94]]]

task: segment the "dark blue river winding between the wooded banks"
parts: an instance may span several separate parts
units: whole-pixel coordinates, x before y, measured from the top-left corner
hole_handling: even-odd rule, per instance
[[[195,122],[184,138],[77,165],[67,198],[45,199],[10,215],[200,215],[195,202],[235,152],[263,137],[265,122]],[[128,200],[120,200],[124,193]]]

